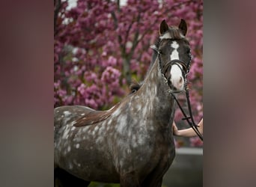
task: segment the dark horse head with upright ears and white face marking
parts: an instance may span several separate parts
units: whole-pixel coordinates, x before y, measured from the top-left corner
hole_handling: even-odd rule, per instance
[[[152,46],[158,53],[160,69],[173,92],[183,91],[191,63],[186,30],[186,22],[183,19],[178,27],[169,27],[163,20],[159,26],[159,39]]]

